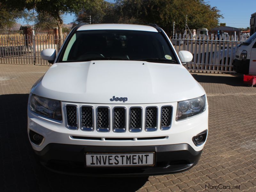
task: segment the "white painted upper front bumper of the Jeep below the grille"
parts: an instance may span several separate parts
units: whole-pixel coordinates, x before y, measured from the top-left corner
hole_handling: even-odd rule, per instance
[[[173,111],[176,110],[177,104],[173,105]],[[158,124],[160,124],[160,120]],[[176,121],[175,118],[172,118],[172,126],[169,130],[163,131],[158,128],[154,132],[146,132],[143,129],[139,133],[129,131],[114,133],[111,129],[110,132],[105,133],[97,132],[96,130],[84,132],[80,128],[69,130],[66,127],[65,120],[57,122],[40,116],[32,112],[28,105],[28,130],[32,130],[45,138],[40,146],[31,142],[32,148],[36,151],[43,150],[51,143],[82,146],[123,146],[124,148],[130,146],[158,146],[187,143],[195,151],[201,151],[204,144],[196,146],[192,138],[200,132],[208,130],[208,107],[203,113],[189,119]],[[95,137],[100,139],[95,140]]]

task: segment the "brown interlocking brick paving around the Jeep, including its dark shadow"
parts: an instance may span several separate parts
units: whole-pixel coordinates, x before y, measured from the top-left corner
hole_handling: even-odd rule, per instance
[[[35,162],[27,100],[48,68],[0,64],[0,191],[256,191],[256,87],[244,86],[242,76],[192,74],[209,103],[209,137],[195,167],[171,175],[93,178],[48,172]]]

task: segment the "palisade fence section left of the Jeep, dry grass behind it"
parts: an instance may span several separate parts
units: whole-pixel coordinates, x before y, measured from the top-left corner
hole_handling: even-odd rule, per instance
[[[41,59],[40,52],[47,48],[56,49],[68,34],[56,36],[52,29],[39,29],[35,35],[23,34],[20,29],[0,29],[0,63],[25,65],[52,65]]]

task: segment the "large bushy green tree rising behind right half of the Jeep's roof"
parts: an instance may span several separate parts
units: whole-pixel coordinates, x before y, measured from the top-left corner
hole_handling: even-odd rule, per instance
[[[189,28],[212,28],[222,17],[217,7],[203,0],[116,0],[117,22],[156,23],[170,34],[172,22],[181,32],[185,29],[186,15]]]

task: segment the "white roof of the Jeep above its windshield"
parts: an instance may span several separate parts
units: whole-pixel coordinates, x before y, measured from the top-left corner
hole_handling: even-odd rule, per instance
[[[77,31],[83,30],[107,30],[107,29],[117,29],[117,30],[136,30],[136,31],[152,31],[157,32],[156,28],[147,25],[131,25],[131,24],[92,24],[92,25],[82,25],[77,29]]]

